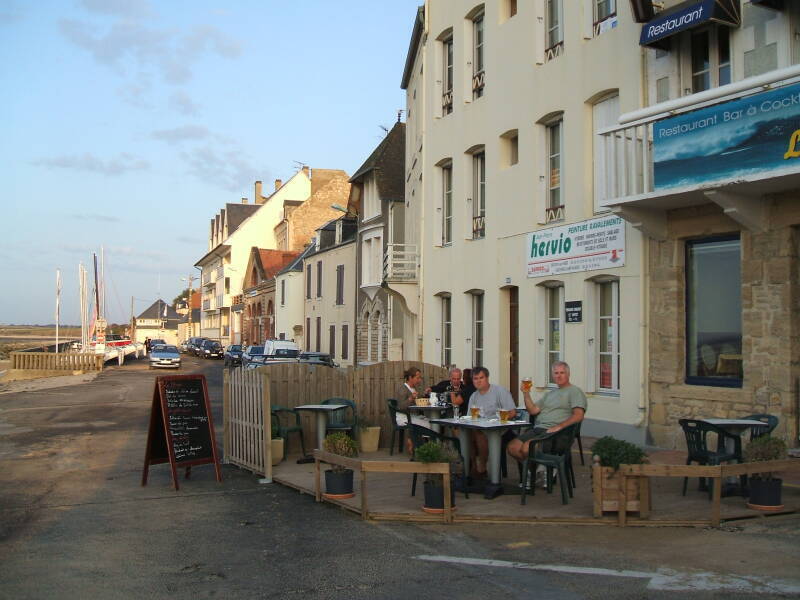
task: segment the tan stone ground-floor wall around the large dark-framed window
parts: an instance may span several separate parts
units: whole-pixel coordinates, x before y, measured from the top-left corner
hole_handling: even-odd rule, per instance
[[[775,435],[797,446],[800,377],[800,207],[769,205],[765,232],[743,230],[716,205],[668,213],[668,239],[650,240],[649,436],[685,447],[678,419],[769,413]],[[742,388],[687,385],[685,240],[740,232],[742,249]],[[724,298],[719,299],[724,302]]]

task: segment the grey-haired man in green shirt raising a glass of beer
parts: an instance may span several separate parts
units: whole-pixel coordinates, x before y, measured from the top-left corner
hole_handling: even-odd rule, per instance
[[[553,363],[553,381],[558,389],[547,392],[539,402],[534,402],[529,390],[521,386],[525,408],[536,416],[536,427],[524,431],[508,443],[508,453],[522,462],[528,456],[531,438],[543,433],[554,433],[583,421],[586,414],[586,394],[569,382],[569,365],[563,361]],[[547,451],[547,448],[545,448]]]

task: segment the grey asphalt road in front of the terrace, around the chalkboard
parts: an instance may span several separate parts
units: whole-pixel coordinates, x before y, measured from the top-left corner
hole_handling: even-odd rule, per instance
[[[222,366],[205,373],[221,440]],[[800,595],[794,516],[723,530],[409,525],[223,466],[140,485],[155,376],[0,393],[0,598]]]

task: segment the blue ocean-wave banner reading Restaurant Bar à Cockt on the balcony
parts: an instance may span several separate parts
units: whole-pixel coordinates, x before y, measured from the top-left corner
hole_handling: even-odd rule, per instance
[[[800,83],[653,124],[655,189],[800,166]]]

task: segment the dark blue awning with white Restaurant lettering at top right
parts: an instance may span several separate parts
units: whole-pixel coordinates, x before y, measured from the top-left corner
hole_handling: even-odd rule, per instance
[[[739,0],[688,0],[673,6],[642,25],[639,44],[655,48],[668,47],[667,40],[681,31],[706,23],[739,27]]]

